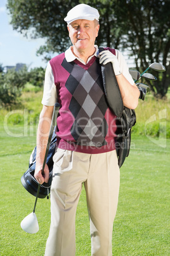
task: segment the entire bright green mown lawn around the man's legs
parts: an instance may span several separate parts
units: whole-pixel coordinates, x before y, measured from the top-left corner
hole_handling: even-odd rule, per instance
[[[32,212],[35,201],[23,188],[20,178],[28,168],[30,153],[36,144],[36,128],[29,127],[25,135],[20,125],[11,125],[9,131],[10,136],[1,124],[0,255],[41,256],[49,232],[49,200],[37,201],[37,234],[27,234],[20,227],[23,218]],[[17,138],[12,134],[23,136]],[[132,136],[130,155],[121,167],[114,256],[169,255],[169,155],[169,139],[162,148],[146,136]],[[76,218],[76,255],[90,256],[90,243],[86,196],[82,188]]]

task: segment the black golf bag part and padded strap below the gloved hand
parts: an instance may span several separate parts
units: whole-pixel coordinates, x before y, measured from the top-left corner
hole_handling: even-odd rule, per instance
[[[110,50],[110,48],[100,47],[99,51],[101,52],[102,50]],[[115,147],[117,150],[118,164],[121,167],[129,155],[131,127],[136,123],[136,114],[134,110],[124,107],[121,91],[110,62],[105,65],[101,64],[101,75],[108,106],[117,117]]]

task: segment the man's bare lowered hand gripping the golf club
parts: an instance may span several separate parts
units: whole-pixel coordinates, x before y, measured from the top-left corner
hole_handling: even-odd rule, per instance
[[[36,163],[36,170],[34,173],[34,177],[38,181],[38,183],[42,184],[44,182],[48,183],[49,180],[49,168],[48,165],[46,164],[44,167],[44,173],[42,174],[42,164],[37,164]]]

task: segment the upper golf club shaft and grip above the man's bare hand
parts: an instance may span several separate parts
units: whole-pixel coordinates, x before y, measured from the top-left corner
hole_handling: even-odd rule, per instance
[[[49,145],[51,143],[51,138],[53,136],[53,131],[54,131],[55,124],[56,124],[56,117],[58,115],[59,110],[60,110],[60,104],[55,103],[55,106],[54,106],[54,109],[53,109],[53,116],[51,118],[51,125],[50,125],[50,129],[49,129],[49,136],[48,136],[48,143],[47,143],[47,146],[46,146],[46,153],[45,153],[44,162],[43,162],[43,165],[42,165],[42,171],[41,171],[42,174],[44,173],[44,167],[46,165],[46,159],[47,159],[47,156],[48,156]]]

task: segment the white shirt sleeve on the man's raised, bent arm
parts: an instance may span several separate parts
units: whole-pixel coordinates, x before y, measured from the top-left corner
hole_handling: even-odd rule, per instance
[[[115,55],[119,61],[119,66],[121,68],[122,75],[124,75],[124,77],[128,80],[129,83],[131,83],[131,85],[134,85],[134,80],[133,80],[131,74],[129,73],[128,65],[127,65],[126,60],[124,59],[122,53],[116,49]]]

